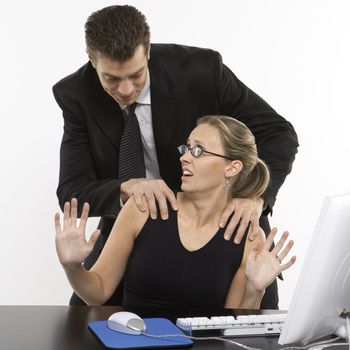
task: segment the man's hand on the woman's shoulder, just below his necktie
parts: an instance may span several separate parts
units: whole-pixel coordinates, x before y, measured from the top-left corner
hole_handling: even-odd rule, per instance
[[[167,200],[174,210],[178,209],[174,192],[163,180],[130,179],[121,184],[120,192],[123,202],[134,196],[136,205],[142,212],[146,210],[144,207],[146,200],[152,219],[157,218],[156,202],[158,203],[160,216],[163,220],[167,220],[169,217]]]

